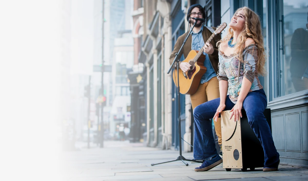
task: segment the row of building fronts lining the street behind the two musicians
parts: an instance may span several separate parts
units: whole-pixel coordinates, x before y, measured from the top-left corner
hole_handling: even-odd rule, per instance
[[[169,68],[169,56],[176,39],[187,29],[185,13],[199,3],[207,12],[206,25],[229,24],[237,8],[248,6],[261,20],[268,54],[268,74],[259,77],[271,109],[272,134],[284,163],[308,165],[307,47],[301,35],[307,33],[306,1],[221,0],[143,2],[143,38],[138,62],[144,63],[139,85],[144,91],[148,146],[178,149],[176,87]],[[186,8],[186,9],[185,9]],[[229,27],[227,27],[229,28]],[[226,35],[222,33],[222,37]],[[181,58],[183,60],[183,57]],[[180,95],[182,137],[193,143],[193,118],[188,95]],[[184,151],[192,148],[182,142]]]

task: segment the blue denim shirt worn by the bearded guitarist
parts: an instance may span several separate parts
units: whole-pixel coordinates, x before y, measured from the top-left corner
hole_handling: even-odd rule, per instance
[[[201,26],[201,30],[198,33],[194,33],[192,31],[192,50],[200,50],[202,46],[204,45],[204,40],[202,37],[202,30],[204,26]],[[205,82],[208,82],[211,78],[216,77],[216,73],[214,71],[214,68],[212,66],[212,63],[210,62],[209,55],[203,52],[203,54],[206,56],[204,60],[204,66],[206,67],[205,74],[202,75],[200,83],[203,84]]]

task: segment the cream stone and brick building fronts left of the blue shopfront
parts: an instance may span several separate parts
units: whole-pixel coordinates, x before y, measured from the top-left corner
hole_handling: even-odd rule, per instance
[[[171,96],[171,86],[168,86],[171,85],[171,75],[165,74],[168,66],[165,60],[172,50],[170,2],[155,0],[134,3],[136,63],[143,65],[143,69],[138,68],[139,71],[132,74],[130,79],[131,88],[139,96],[136,103],[138,110],[132,110],[137,128],[142,130],[138,138],[148,146],[169,149],[172,120],[171,104],[167,100],[171,99],[168,97]]]

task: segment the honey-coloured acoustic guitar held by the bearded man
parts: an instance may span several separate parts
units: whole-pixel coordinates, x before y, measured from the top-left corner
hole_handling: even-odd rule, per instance
[[[210,36],[210,38],[206,42],[211,42],[216,34],[221,33],[222,30],[225,29],[227,23],[222,23],[217,27],[214,33]],[[203,74],[206,72],[206,67],[204,66],[205,55],[203,54],[203,47],[198,50],[191,50],[185,60],[182,62],[188,62],[191,67],[190,70],[183,72],[179,67],[179,79],[180,79],[180,93],[181,94],[195,94],[198,86],[200,84],[200,80]],[[177,70],[174,70],[173,73],[173,82],[177,86]]]

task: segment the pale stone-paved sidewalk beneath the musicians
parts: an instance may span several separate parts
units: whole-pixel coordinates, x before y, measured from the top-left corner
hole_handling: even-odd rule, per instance
[[[210,171],[195,172],[194,168],[201,163],[190,163],[185,166],[181,161],[151,166],[151,163],[171,161],[178,157],[179,151],[161,150],[144,147],[143,143],[128,141],[106,141],[104,148],[86,143],[79,145],[80,151],[67,151],[61,154],[61,172],[65,181],[193,181],[193,180],[256,180],[284,181],[308,180],[308,169],[279,165],[278,171],[241,172],[240,169],[225,171],[222,164]],[[193,159],[193,153],[183,153],[186,159]]]

